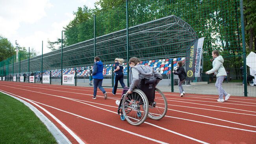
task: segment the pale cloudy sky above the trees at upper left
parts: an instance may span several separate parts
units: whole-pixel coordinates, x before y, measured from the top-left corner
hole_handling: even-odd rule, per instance
[[[73,12],[96,0],[0,0],[0,35],[13,46],[34,48],[38,55],[50,52],[47,40],[61,38],[63,27],[74,19]]]

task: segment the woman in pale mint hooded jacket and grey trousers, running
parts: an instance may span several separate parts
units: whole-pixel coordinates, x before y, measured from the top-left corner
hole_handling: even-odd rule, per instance
[[[227,76],[226,70],[223,67],[224,59],[222,56],[219,55],[218,50],[213,50],[211,52],[211,56],[213,57],[213,63],[212,63],[212,69],[205,72],[206,74],[213,74],[216,75],[217,80],[215,83],[216,88],[219,92],[219,99],[218,102],[224,102],[227,101],[230,97],[230,94],[228,94],[225,90],[222,88],[222,83],[224,78]],[[223,94],[225,95],[225,100],[223,99]]]

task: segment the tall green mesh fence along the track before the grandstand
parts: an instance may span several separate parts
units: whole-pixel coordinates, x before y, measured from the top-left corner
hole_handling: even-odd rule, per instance
[[[217,49],[224,58],[223,65],[228,73],[223,88],[232,95],[255,96],[253,76],[256,66],[253,59],[256,56],[247,56],[245,52],[242,12],[242,0],[120,2],[65,29],[67,47],[43,54],[43,58],[41,55],[28,59],[28,54],[20,52],[19,62],[15,56],[1,61],[1,79],[5,77],[11,81],[17,74],[19,81],[24,73],[29,76],[35,72],[37,76],[43,72],[43,75],[51,76],[52,84],[61,85],[61,74],[76,74],[74,85],[89,86],[88,69],[93,65],[94,57],[99,56],[104,63],[103,86],[113,86],[115,58],[125,59],[124,81],[128,85],[127,61],[136,56],[141,59],[141,64],[153,67],[163,75],[158,88],[178,92],[178,79],[171,74],[172,68],[177,61],[186,61],[187,47],[192,41],[204,37],[200,77],[186,81],[186,92],[218,94],[216,76],[204,74],[212,68],[211,52]],[[248,62],[246,56],[252,60]],[[247,81],[249,83],[245,84]]]

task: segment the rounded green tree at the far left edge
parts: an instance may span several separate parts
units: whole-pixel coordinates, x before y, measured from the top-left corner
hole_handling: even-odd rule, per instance
[[[11,42],[0,35],[0,61],[7,59],[15,54],[15,48]]]

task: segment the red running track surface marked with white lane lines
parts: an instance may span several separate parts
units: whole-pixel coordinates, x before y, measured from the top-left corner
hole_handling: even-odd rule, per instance
[[[89,144],[256,144],[255,97],[231,96],[229,101],[218,103],[217,95],[179,97],[176,93],[165,92],[169,104],[166,116],[159,121],[148,118],[140,126],[132,126],[117,115],[115,100],[120,99],[121,90],[112,95],[112,89],[105,88],[109,92],[106,100],[100,90],[97,99],[92,99],[92,87],[0,81],[0,90],[26,98],[23,100],[43,112],[73,144],[79,142],[30,100]]]

